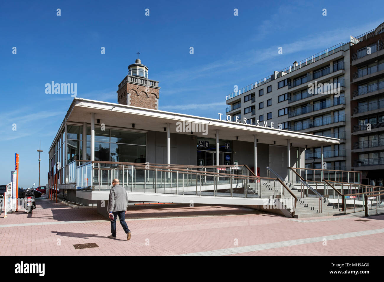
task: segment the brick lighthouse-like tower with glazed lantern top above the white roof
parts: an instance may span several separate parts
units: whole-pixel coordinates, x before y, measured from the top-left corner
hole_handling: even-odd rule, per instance
[[[119,84],[117,93],[119,104],[159,109],[159,82],[148,79],[148,67],[140,59],[128,66],[128,75]]]

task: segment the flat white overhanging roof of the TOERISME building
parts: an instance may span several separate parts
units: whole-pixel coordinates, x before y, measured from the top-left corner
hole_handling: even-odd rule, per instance
[[[238,136],[239,141],[253,142],[253,135],[256,134],[259,143],[273,144],[273,141],[275,141],[276,145],[286,146],[287,139],[290,139],[292,146],[303,148],[305,148],[306,145],[310,148],[321,146],[321,144],[339,144],[340,140],[337,138],[227,121],[224,120],[225,115],[222,116],[223,120],[219,120],[83,98],[73,99],[66,115],[66,120],[91,123],[91,113],[95,114],[95,122],[99,119],[100,124],[104,123],[106,126],[164,132],[164,127],[167,126],[167,123],[170,123],[170,132],[177,134],[190,135],[190,132],[176,131],[177,121],[202,123],[207,125],[207,135],[203,135],[202,132],[194,132],[193,135],[205,138],[215,138],[216,130],[219,130],[220,139],[236,140],[236,136]],[[132,128],[132,123],[135,124],[134,128]],[[275,124],[275,126],[277,126],[277,124]]]

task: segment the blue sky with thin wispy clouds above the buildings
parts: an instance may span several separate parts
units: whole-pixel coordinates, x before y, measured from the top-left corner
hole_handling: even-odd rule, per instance
[[[70,94],[46,94],[45,84],[52,80],[77,83],[77,97],[117,102],[117,86],[140,51],[149,78],[160,82],[160,110],[217,118],[225,113],[225,95],[234,85],[244,87],[376,28],[384,21],[381,5],[2,1],[0,184],[10,182],[15,152],[20,154],[19,186],[38,182],[40,140],[41,185],[46,184],[48,149],[73,99]],[[238,16],[233,15],[235,8]],[[12,54],[13,47],[17,54]],[[283,54],[278,54],[279,47]]]

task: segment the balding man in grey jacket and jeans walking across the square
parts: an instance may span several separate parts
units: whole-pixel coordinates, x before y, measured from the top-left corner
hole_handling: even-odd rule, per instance
[[[128,194],[124,187],[120,186],[119,179],[115,178],[112,182],[111,192],[109,192],[109,219],[111,220],[112,234],[108,238],[116,239],[116,220],[119,216],[120,224],[127,233],[127,240],[131,239],[131,231],[129,231],[125,222],[125,214],[128,208]]]

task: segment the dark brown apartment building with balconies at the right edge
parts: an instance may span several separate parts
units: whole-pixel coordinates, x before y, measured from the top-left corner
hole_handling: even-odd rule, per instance
[[[384,24],[353,38],[351,60],[351,160],[365,184],[384,178]],[[373,183],[372,183],[373,184]]]

